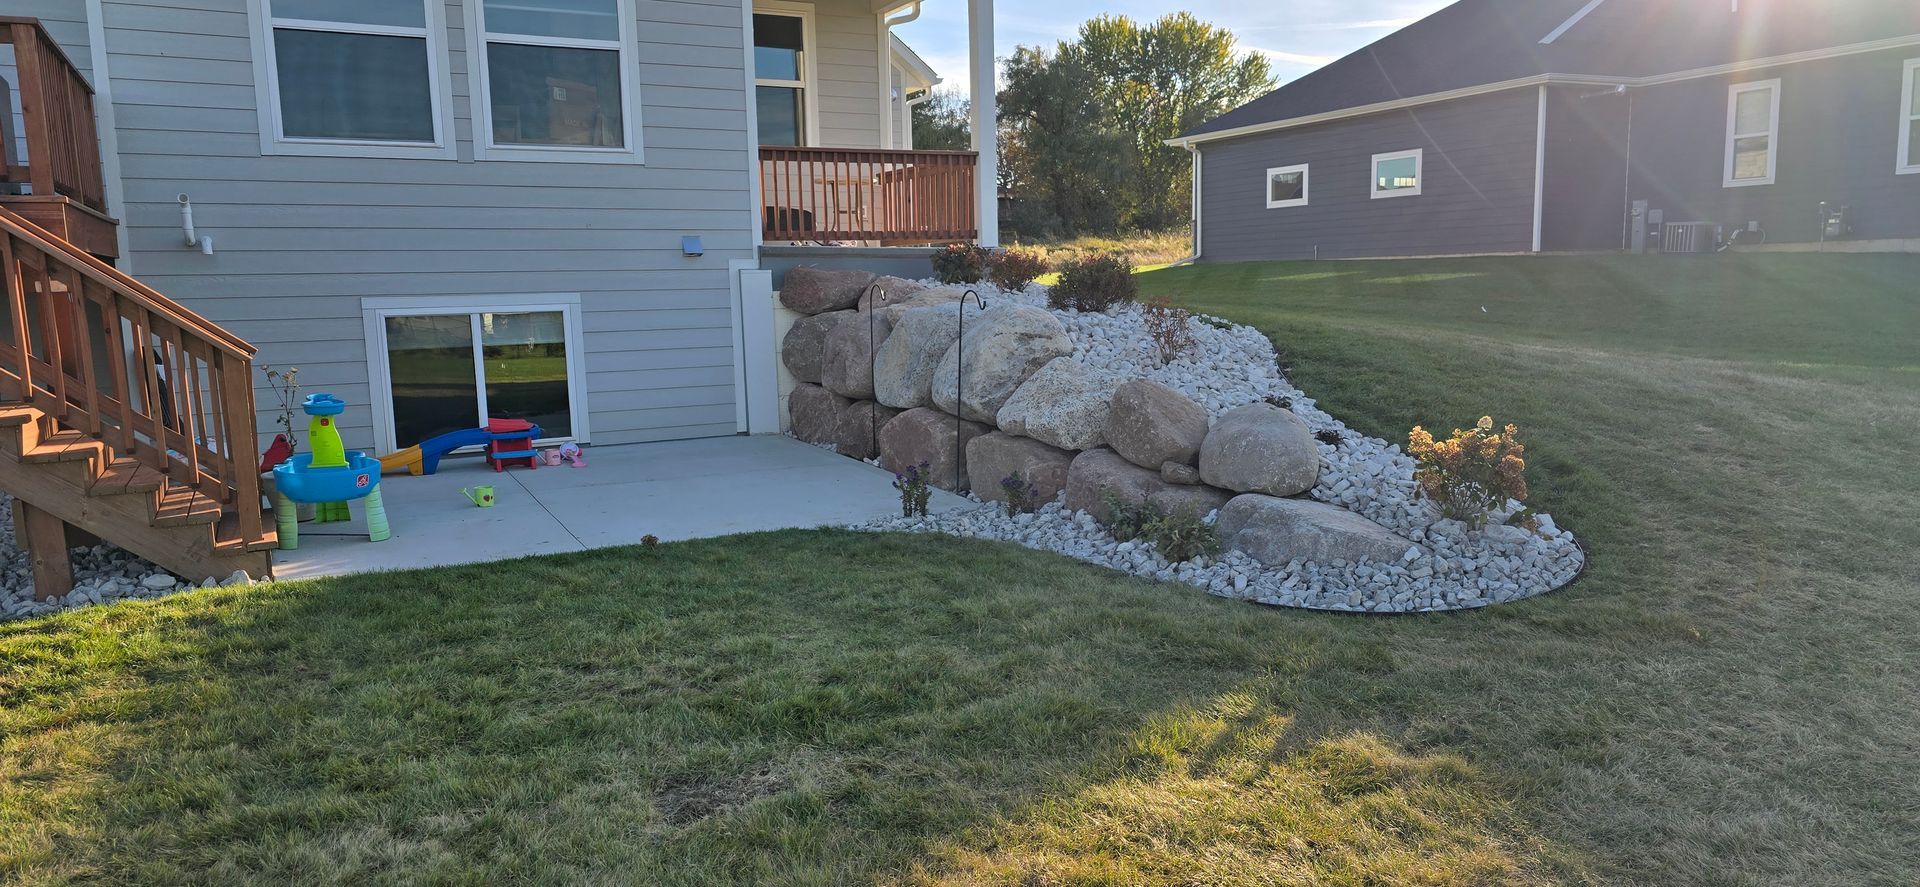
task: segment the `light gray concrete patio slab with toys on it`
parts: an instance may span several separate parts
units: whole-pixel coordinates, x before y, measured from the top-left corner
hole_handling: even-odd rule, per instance
[[[461,488],[493,484],[497,505],[474,507]],[[783,436],[737,436],[588,447],[584,468],[509,468],[478,455],[447,457],[432,476],[380,480],[394,538],[369,543],[361,507],[351,524],[300,524],[300,549],[276,551],[284,580],[449,566],[760,530],[816,528],[893,516],[893,474]],[[935,490],[933,511],[968,501]]]

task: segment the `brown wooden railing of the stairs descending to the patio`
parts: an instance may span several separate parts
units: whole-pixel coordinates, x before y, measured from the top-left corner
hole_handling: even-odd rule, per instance
[[[0,209],[0,399],[108,444],[263,538],[253,346]]]

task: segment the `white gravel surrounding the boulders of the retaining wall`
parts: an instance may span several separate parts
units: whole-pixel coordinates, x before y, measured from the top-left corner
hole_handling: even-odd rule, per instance
[[[1002,292],[979,286],[987,303],[1016,300],[1046,307],[1046,288]],[[1538,515],[1540,532],[1500,526],[1484,530],[1448,520],[1421,499],[1415,461],[1398,444],[1367,438],[1321,411],[1281,372],[1273,344],[1252,326],[1213,317],[1188,321],[1194,349],[1169,365],[1152,351],[1137,305],[1110,313],[1054,311],[1073,338],[1073,357],[1121,378],[1152,378],[1175,388],[1215,419],[1229,409],[1284,397],[1294,415],[1315,430],[1334,430],[1340,444],[1319,444],[1321,480],[1313,499],[1359,513],[1415,545],[1398,563],[1261,564],[1227,551],[1213,561],[1169,564],[1146,541],[1116,541],[1092,516],[1066,513],[1060,503],[1008,518],[996,505],[862,524],[864,530],[943,532],[964,538],[1016,541],[1112,566],[1162,582],[1187,582],[1221,597],[1327,611],[1430,612],[1486,607],[1551,591],[1574,580],[1586,555],[1572,534]],[[1519,503],[1509,503],[1519,507]],[[1208,516],[1213,520],[1213,515]]]

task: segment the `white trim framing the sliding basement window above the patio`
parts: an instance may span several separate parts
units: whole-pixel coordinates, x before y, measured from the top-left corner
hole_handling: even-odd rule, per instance
[[[501,296],[384,296],[363,298],[361,319],[367,332],[367,376],[369,401],[372,401],[372,440],[378,453],[392,453],[397,434],[394,432],[394,371],[386,361],[386,319],[420,315],[476,315],[476,313],[540,313],[561,311],[566,336],[566,409],[572,417],[574,434],[570,438],[541,438],[538,444],[557,444],[572,440],[588,444],[588,363],[586,332],[580,324],[578,292],[536,292]],[[474,348],[480,340],[474,338]],[[478,355],[476,355],[478,357]],[[474,386],[480,392],[480,415],[486,415],[484,363],[474,361]],[[478,417],[476,417],[478,419]],[[478,428],[478,426],[474,426]]]

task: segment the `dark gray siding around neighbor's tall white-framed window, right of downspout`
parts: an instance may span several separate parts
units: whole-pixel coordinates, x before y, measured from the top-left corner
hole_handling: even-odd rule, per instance
[[[1857,240],[1920,238],[1920,175],[1893,173],[1910,58],[1920,48],[1634,90],[1634,200],[1667,221],[1759,221],[1774,244],[1818,240],[1824,200],[1853,207]],[[1776,77],[1774,184],[1726,188],[1726,90]]]

